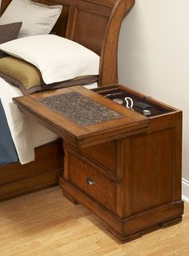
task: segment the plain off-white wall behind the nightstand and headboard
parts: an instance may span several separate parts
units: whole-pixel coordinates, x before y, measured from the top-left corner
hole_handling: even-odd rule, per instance
[[[119,81],[183,110],[183,194],[189,199],[189,1],[136,0],[119,39]]]

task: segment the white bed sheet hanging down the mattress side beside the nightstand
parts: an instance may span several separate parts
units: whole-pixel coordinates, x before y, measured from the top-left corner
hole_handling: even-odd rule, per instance
[[[92,89],[97,87],[97,84],[85,87]],[[0,78],[0,97],[10,133],[18,153],[18,159],[20,163],[25,164],[34,161],[34,147],[52,142],[58,138],[58,135],[22,114],[12,101],[13,97],[19,96],[22,96],[22,92],[17,87]]]

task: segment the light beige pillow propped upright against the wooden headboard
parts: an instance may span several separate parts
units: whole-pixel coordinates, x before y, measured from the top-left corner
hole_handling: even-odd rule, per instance
[[[13,0],[0,18],[0,25],[22,22],[18,38],[49,34],[62,6],[46,6],[30,0]]]

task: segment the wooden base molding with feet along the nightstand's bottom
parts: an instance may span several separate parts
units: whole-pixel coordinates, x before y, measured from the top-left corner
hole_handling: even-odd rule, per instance
[[[62,178],[60,178],[60,187],[63,195],[66,195],[67,198],[70,197],[72,202],[79,202],[100,217],[106,223],[107,229],[120,242],[129,242],[155,229],[167,228],[182,221],[183,201],[165,204],[153,210],[121,219]]]

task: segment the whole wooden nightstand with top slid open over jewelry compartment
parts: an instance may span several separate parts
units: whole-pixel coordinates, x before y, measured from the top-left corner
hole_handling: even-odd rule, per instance
[[[125,97],[135,111],[123,106]],[[121,241],[182,220],[180,110],[123,85],[76,86],[14,102],[64,139],[63,194]]]

